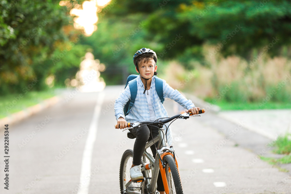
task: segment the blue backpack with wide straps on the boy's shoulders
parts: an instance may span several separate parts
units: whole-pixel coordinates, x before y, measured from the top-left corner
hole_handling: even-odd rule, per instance
[[[138,76],[139,75],[130,75],[127,77],[125,88],[127,87],[127,85],[129,85],[130,100],[125,104],[125,106],[123,108],[123,112],[124,112],[125,116],[129,113],[129,110],[132,108],[134,101],[135,101],[135,98],[136,98],[136,94],[137,94],[136,78]],[[159,99],[163,103],[165,100],[164,94],[163,94],[163,80],[158,78],[157,76],[155,76],[155,84],[156,84],[156,91],[158,93]]]

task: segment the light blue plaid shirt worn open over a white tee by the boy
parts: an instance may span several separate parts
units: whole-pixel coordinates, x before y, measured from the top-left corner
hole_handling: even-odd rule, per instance
[[[150,110],[148,108],[148,102],[145,97],[145,95],[147,95],[147,92],[143,94],[144,86],[140,76],[138,76],[136,80],[138,86],[136,99],[134,101],[134,105],[132,106],[132,108],[130,109],[129,113],[126,116],[123,113],[123,108],[125,104],[130,100],[129,86],[127,86],[125,90],[123,90],[123,92],[120,93],[119,97],[115,100],[114,111],[116,120],[119,117],[125,118],[127,122],[139,122],[150,120]],[[150,99],[152,101],[152,107],[154,109],[156,119],[168,117],[168,113],[163,104],[161,103],[161,100],[159,99],[159,96],[156,91],[155,76],[152,77],[150,90],[151,90]],[[178,90],[174,90],[171,86],[169,86],[169,84],[166,83],[165,80],[163,80],[163,93],[164,98],[169,98],[178,102],[181,106],[183,106],[187,110],[195,107],[191,100],[187,100],[183,95],[180,94],[180,92],[178,92]],[[166,123],[166,126],[168,125],[169,123]],[[173,141],[172,131],[170,127],[168,128],[167,132],[167,141],[169,145],[171,145]]]

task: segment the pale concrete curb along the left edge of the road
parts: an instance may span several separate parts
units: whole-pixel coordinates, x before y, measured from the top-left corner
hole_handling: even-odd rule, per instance
[[[52,98],[46,99],[39,104],[36,104],[34,106],[30,106],[22,111],[19,111],[17,113],[13,113],[12,115],[0,119],[0,126],[4,126],[5,124],[15,124],[21,120],[24,120],[25,118],[28,118],[29,116],[36,114],[45,108],[48,108],[49,106],[52,106],[59,102],[60,97],[54,96]],[[1,129],[0,129],[1,130]]]

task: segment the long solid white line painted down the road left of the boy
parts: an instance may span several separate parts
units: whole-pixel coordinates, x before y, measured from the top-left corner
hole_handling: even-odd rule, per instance
[[[92,152],[93,152],[93,146],[94,146],[94,142],[96,140],[96,134],[97,134],[97,121],[99,119],[104,95],[105,95],[104,92],[99,92],[98,94],[98,99],[97,99],[96,106],[94,109],[93,118],[90,124],[88,137],[87,137],[84,152],[83,152],[80,184],[79,184],[81,188],[78,191],[78,194],[88,194],[89,192]]]

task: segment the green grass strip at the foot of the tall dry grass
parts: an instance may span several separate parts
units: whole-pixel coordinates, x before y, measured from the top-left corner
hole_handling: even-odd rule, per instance
[[[222,111],[228,110],[262,110],[262,109],[291,109],[291,102],[267,102],[266,104],[259,104],[258,102],[226,102],[213,101],[212,99],[205,99],[206,102],[215,104],[221,108]]]

